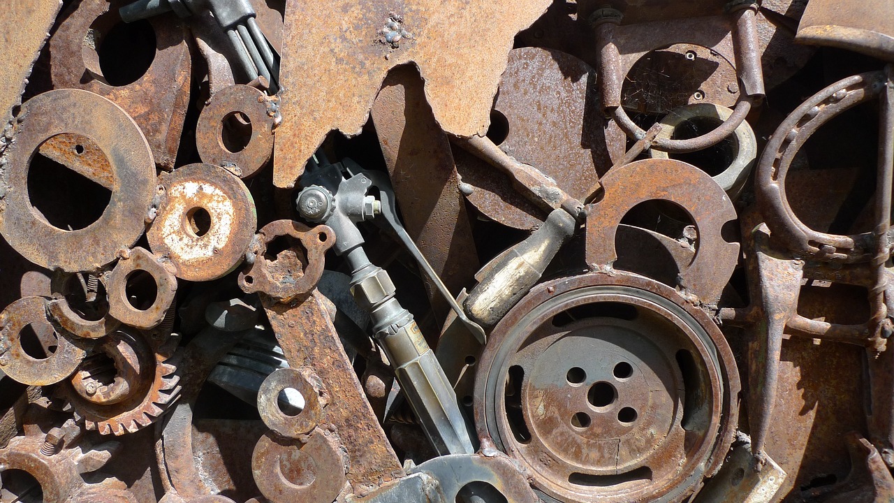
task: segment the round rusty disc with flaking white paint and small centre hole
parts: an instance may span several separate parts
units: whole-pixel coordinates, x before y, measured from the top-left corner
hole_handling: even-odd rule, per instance
[[[167,257],[177,277],[209,281],[240,264],[255,237],[257,216],[249,189],[217,166],[190,164],[159,177],[164,197],[146,237]]]

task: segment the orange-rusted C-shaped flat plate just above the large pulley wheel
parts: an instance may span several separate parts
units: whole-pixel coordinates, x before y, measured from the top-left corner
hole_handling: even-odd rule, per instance
[[[674,159],[644,159],[611,169],[601,181],[603,199],[586,217],[586,263],[611,267],[615,234],[630,209],[646,200],[667,200],[685,209],[696,224],[696,256],[679,271],[679,286],[705,303],[716,303],[738,261],[738,243],[724,241],[721,230],[736,219],[730,197],[711,176]]]

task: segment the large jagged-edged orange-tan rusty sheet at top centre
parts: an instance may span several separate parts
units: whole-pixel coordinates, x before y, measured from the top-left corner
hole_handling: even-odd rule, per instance
[[[512,40],[549,4],[290,0],[274,184],[291,187],[328,132],[358,134],[385,74],[399,64],[416,64],[445,132],[484,134]],[[320,16],[323,11],[332,15]],[[385,42],[381,31],[390,21],[398,21],[410,37]]]

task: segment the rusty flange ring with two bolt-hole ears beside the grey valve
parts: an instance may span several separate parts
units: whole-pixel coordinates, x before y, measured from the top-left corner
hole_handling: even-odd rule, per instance
[[[291,236],[300,246],[280,252],[274,260],[267,259],[267,246],[280,236]],[[335,233],[328,226],[311,229],[292,220],[270,222],[257,233],[246,254],[251,267],[239,273],[239,286],[247,294],[264,292],[289,303],[314,289],[323,276],[325,252],[334,243]]]

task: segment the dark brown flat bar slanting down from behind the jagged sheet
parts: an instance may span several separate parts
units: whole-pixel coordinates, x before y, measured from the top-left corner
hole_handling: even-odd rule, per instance
[[[391,72],[372,115],[407,232],[458,294],[472,282],[478,257],[450,141],[431,114],[418,73],[409,67]],[[434,285],[428,291],[435,311],[446,315],[449,307]]]

